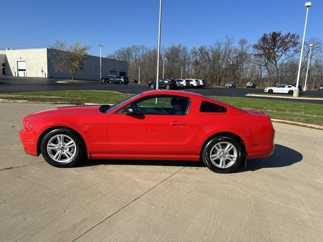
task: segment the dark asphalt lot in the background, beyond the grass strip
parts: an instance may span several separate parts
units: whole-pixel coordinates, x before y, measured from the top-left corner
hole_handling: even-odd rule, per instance
[[[0,76],[0,93],[9,92],[28,92],[28,91],[52,91],[52,90],[105,90],[116,91],[121,93],[139,93],[150,90],[148,85],[141,84],[99,84],[98,82],[89,83],[57,83],[59,79],[46,79],[46,78],[21,78],[21,77],[1,77]],[[227,97],[248,97],[248,98],[262,98],[267,97],[251,97],[245,96],[248,93],[264,93],[263,89],[258,88],[219,88],[219,87],[207,87],[198,89],[185,89],[186,91],[197,92],[207,96],[227,96]],[[289,96],[281,94],[282,96]],[[301,93],[300,96],[304,94]],[[309,97],[323,97],[322,91],[306,91],[306,96]],[[285,100],[282,98],[273,98],[276,100]],[[286,99],[298,102],[312,102],[323,104],[322,100],[302,100],[302,99]]]

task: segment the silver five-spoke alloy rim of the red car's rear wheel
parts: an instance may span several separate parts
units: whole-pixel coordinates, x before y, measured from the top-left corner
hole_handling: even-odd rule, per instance
[[[218,168],[232,166],[238,157],[236,147],[229,142],[219,142],[214,145],[210,152],[210,160]]]

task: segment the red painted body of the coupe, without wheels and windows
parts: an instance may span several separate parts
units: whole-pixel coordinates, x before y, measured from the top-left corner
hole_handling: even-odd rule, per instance
[[[116,113],[129,103],[153,95],[173,95],[191,100],[186,115],[127,115]],[[200,112],[202,101],[227,108],[226,112]],[[244,143],[246,158],[267,157],[274,150],[275,130],[270,117],[259,111],[184,91],[146,91],[118,108],[103,113],[100,105],[48,109],[23,118],[19,132],[25,151],[38,156],[44,134],[56,128],[77,132],[89,159],[200,159],[205,142],[218,134],[230,134]]]

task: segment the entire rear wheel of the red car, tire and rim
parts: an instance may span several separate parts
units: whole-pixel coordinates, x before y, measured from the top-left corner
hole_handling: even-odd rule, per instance
[[[243,158],[243,146],[230,136],[211,139],[202,151],[206,167],[218,173],[229,173],[239,167]]]

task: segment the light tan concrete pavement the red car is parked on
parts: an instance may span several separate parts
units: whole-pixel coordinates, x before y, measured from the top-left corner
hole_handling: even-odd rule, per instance
[[[323,241],[323,131],[276,124],[270,158],[217,174],[194,162],[24,153],[24,115],[0,103],[0,241]]]

